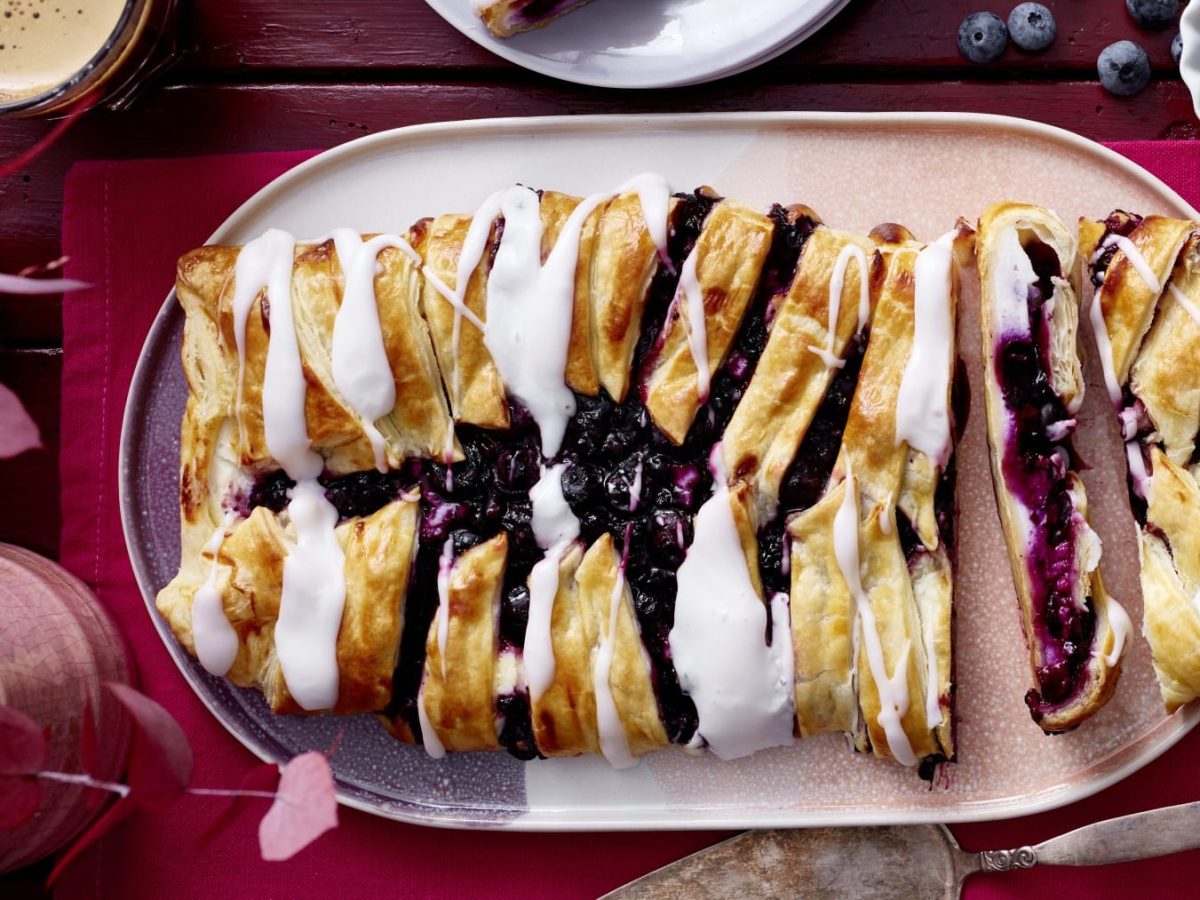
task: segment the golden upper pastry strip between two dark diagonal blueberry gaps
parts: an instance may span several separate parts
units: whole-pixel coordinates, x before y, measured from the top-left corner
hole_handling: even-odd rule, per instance
[[[732,200],[713,208],[696,240],[696,281],[704,311],[706,358],[715,373],[733,344],[758,275],[770,250],[774,223]],[[688,436],[703,400],[690,335],[691,307],[676,294],[667,316],[661,349],[646,382],[646,409],[659,430],[676,444]]]

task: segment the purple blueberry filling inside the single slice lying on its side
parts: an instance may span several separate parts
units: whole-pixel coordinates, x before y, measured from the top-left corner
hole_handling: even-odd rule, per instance
[[[1050,427],[1070,418],[1050,383],[1050,326],[1044,314],[1057,257],[1040,241],[1026,246],[1038,282],[1030,287],[1030,335],[1007,335],[996,353],[996,379],[1012,418],[1001,468],[1026,508],[1033,535],[1028,547],[1033,628],[1042,650],[1038,686],[1025,697],[1034,720],[1078,694],[1092,656],[1096,613],[1091,598],[1079,608],[1075,581],[1076,515],[1068,469],[1078,460],[1069,437],[1054,440]]]

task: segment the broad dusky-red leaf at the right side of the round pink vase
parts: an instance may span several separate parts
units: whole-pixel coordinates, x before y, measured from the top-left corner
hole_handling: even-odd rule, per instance
[[[127,684],[104,686],[133,716],[127,784],[130,800],[157,812],[175,802],[192,778],[192,748],[170,713]]]

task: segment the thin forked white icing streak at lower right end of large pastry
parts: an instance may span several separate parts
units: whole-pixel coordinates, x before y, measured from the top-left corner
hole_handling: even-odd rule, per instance
[[[833,540],[834,556],[838,558],[838,568],[841,576],[854,598],[858,618],[863,625],[863,640],[866,641],[866,660],[871,668],[871,677],[880,692],[878,724],[887,736],[888,748],[892,756],[901,766],[916,766],[917,756],[913,754],[912,744],[904,731],[901,719],[908,712],[908,653],[912,643],[905,644],[904,652],[896,660],[895,671],[888,674],[887,661],[883,658],[883,644],[880,641],[880,632],[875,624],[875,611],[871,601],[863,590],[862,575],[859,574],[859,545],[858,545],[858,485],[854,482],[854,474],[850,467],[850,458],[846,458],[846,496],[841,508],[834,516]],[[856,654],[857,655],[857,654]]]

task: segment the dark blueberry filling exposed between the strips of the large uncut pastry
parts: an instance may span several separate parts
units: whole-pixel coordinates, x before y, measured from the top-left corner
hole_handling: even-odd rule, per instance
[[[643,376],[653,367],[653,358],[661,347],[678,271],[719,200],[704,188],[677,198],[679,203],[668,227],[671,265],[660,265],[652,280],[635,347],[632,371]],[[566,463],[562,488],[580,518],[581,540],[590,546],[602,534],[611,534],[617,551],[626,557],[625,577],[650,659],[660,712],[670,739],[677,743],[685,743],[695,734],[697,715],[695,704],[679,686],[667,641],[674,619],[676,571],[692,541],[692,516],[712,492],[708,468],[712,446],[724,433],[754,374],[766,346],[774,300],[791,283],[800,250],[815,227],[808,212],[798,209],[775,206],[770,217],[776,229],[760,289],[728,359],[714,373],[709,400],[697,413],[684,443],[676,446],[658,431],[640,391],[631,391],[622,403],[604,391],[596,397],[576,394],[576,414],[556,457]],[[490,262],[494,259],[503,228],[500,220],[490,245]],[[856,373],[863,347],[865,340],[856,344]],[[320,479],[341,520],[370,515],[406,491],[420,491],[419,542],[406,601],[400,662],[394,674],[392,700],[384,710],[385,715],[402,719],[416,740],[421,740],[416,700],[426,640],[438,607],[439,560],[448,539],[454,541],[454,553],[458,557],[502,530],[508,534],[498,649],[521,653],[524,646],[529,613],[527,581],[542,557],[533,534],[529,500],[529,488],[540,476],[541,456],[538,428],[528,412],[511,400],[509,407],[506,431],[457,426],[464,460],[449,470],[433,460],[410,460],[395,472]],[[287,506],[293,486],[282,472],[263,474],[245,503],[280,512]],[[635,486],[640,488],[636,494]],[[776,554],[781,554],[781,528],[775,536]],[[509,752],[518,758],[536,757],[528,691],[521,688],[498,697],[497,714],[499,739]]]

